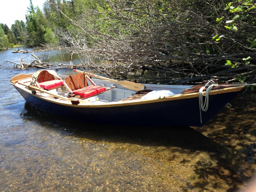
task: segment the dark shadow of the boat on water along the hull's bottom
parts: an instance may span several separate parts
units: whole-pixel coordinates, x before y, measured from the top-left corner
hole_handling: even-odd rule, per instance
[[[218,152],[219,145],[191,127],[148,127],[92,124],[75,122],[61,116],[49,114],[36,109],[28,102],[20,115],[23,121],[33,121],[49,129],[64,131],[81,139],[107,141],[114,143],[131,143],[141,146],[165,146]]]

